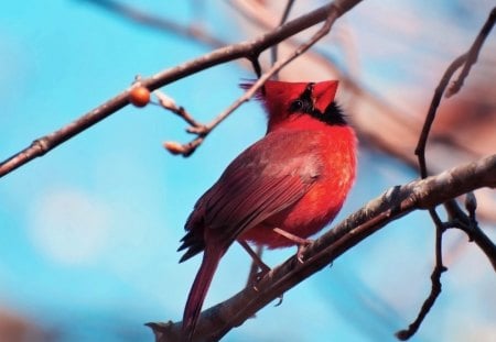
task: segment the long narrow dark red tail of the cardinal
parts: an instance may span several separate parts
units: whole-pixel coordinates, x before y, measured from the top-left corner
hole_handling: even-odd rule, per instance
[[[193,339],[203,301],[223,255],[224,251],[212,250],[208,246],[203,254],[202,265],[191,287],[184,308],[182,335],[185,341],[192,341]]]

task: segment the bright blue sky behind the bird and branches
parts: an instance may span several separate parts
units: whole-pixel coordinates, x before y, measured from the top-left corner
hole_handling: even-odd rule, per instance
[[[139,5],[180,22],[192,18],[187,1]],[[217,32],[229,32],[222,12],[208,15]],[[85,1],[10,1],[0,11],[0,158],[126,89],[136,75],[206,52]],[[364,84],[379,74],[384,84],[391,82],[387,73],[398,77],[393,67],[368,70],[369,63],[363,65]],[[247,77],[252,75],[230,64],[164,91],[207,121],[241,93],[236,85]],[[180,319],[197,271],[198,258],[180,265],[175,252],[191,208],[229,161],[263,132],[263,114],[250,102],[194,156],[175,157],[161,144],[186,141],[184,122],[153,106],[127,107],[2,178],[0,309],[56,331],[61,341],[150,341],[142,324]],[[358,175],[337,221],[388,187],[416,177],[399,162],[366,148]],[[283,330],[287,340],[393,341],[392,333],[413,318],[429,289],[431,249],[427,216],[409,216],[292,289],[281,307],[268,306],[228,341],[273,341],[280,322],[290,322]],[[267,262],[278,264],[292,252],[267,253]],[[239,290],[248,264],[245,253],[233,247],[206,306]],[[455,267],[446,276],[445,294],[416,341],[451,337],[446,321],[454,313],[448,312],[479,312],[478,298],[463,297],[464,288],[453,285],[463,272]],[[405,284],[410,288],[399,291]],[[453,304],[455,295],[460,299]]]

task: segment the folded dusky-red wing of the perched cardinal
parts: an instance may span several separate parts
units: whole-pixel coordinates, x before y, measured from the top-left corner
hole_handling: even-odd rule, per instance
[[[301,134],[308,134],[302,132]],[[197,201],[181,250],[185,261],[202,252],[205,235],[227,246],[246,230],[294,205],[320,175],[311,144],[303,136],[267,135],[241,153]],[[291,153],[289,153],[289,151]]]

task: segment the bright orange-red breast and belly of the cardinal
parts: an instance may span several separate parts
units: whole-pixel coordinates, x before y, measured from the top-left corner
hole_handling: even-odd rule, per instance
[[[302,159],[309,165],[300,166],[315,169],[315,165],[310,164],[319,163],[319,175],[308,191],[293,206],[245,232],[241,239],[270,249],[289,246],[294,243],[272,232],[272,228],[306,239],[334,219],[355,179],[355,135],[352,129],[339,128],[331,135],[320,135],[314,145],[315,151]]]

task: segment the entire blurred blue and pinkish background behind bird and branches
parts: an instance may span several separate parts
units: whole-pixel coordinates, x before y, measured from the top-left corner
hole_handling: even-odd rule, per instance
[[[290,19],[324,1],[295,1]],[[150,76],[277,26],[285,1],[9,1],[0,11],[0,159]],[[356,186],[339,217],[418,177],[413,150],[433,90],[466,52],[492,0],[364,1],[330,36],[281,73],[339,78],[338,101],[360,137]],[[281,44],[294,48],[312,32]],[[461,93],[442,103],[428,150],[435,173],[493,154],[496,37]],[[263,55],[263,65],[270,62]],[[209,121],[254,78],[229,63],[162,89]],[[265,133],[256,101],[236,111],[190,158],[185,123],[159,107],[127,107],[0,179],[0,342],[153,341],[143,326],[179,320],[200,258],[177,264],[183,224],[227,164]],[[496,240],[494,191],[477,192]],[[445,234],[443,293],[412,341],[496,341],[495,276],[459,231]],[[433,224],[416,212],[233,330],[226,341],[395,341],[430,290]],[[293,250],[265,254],[277,265]],[[234,245],[205,308],[245,285],[249,258]],[[281,328],[283,327],[283,329]]]

